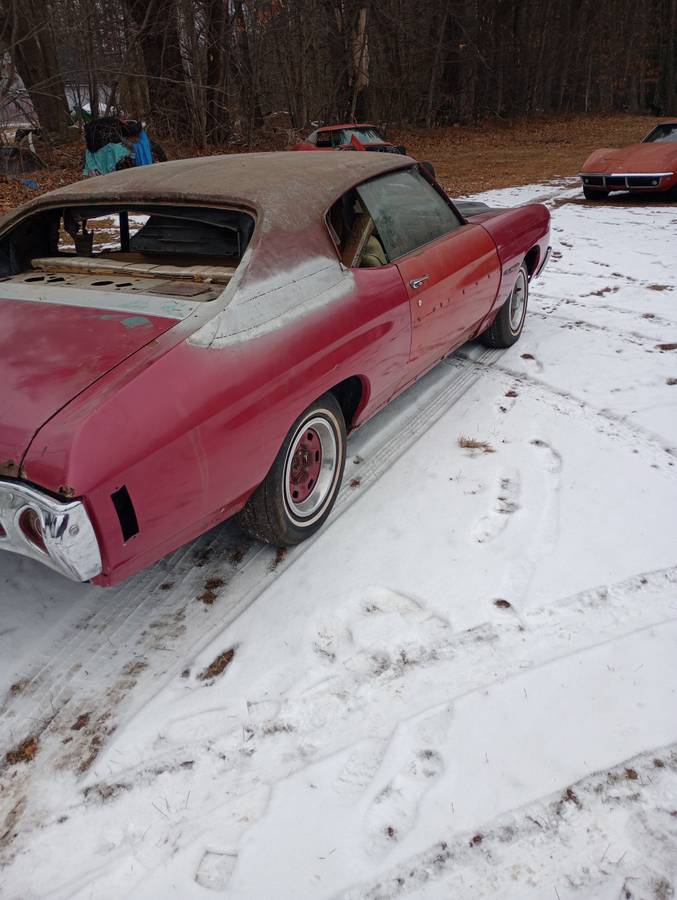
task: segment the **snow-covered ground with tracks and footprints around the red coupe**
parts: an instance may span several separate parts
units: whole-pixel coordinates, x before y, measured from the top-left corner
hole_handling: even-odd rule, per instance
[[[479,198],[553,212],[522,340],[356,434],[315,540],[0,558],[0,896],[674,895],[677,208],[578,193]]]

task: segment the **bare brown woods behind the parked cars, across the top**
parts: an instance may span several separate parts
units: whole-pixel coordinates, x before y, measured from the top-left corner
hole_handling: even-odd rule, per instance
[[[18,73],[50,132],[87,103],[199,147],[273,121],[677,114],[677,0],[0,0],[2,52],[0,112]]]

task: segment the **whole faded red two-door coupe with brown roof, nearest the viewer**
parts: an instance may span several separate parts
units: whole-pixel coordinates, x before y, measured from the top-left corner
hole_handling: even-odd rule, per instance
[[[548,237],[545,207],[459,208],[380,153],[183,160],[16,210],[0,547],[112,584],[236,513],[303,540],[347,432],[469,338],[517,340]]]

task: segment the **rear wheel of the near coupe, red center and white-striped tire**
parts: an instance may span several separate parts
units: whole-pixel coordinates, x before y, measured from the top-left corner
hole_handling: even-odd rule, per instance
[[[292,425],[265,480],[238,516],[249,534],[277,547],[299,544],[332,510],[346,463],[346,424],[324,394]]]

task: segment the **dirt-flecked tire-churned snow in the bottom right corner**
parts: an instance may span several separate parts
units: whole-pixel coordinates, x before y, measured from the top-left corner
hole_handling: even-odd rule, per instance
[[[414,892],[460,897],[467,896],[468,885],[478,900],[504,894],[555,897],[558,880],[567,895],[574,888],[585,897],[611,896],[613,885],[621,885],[623,897],[672,896],[674,828],[667,798],[676,772],[677,745],[657,747],[478,824],[474,831],[456,832],[450,821],[437,843],[380,877],[339,891],[333,900],[383,900]],[[618,810],[615,822],[620,817],[621,825],[611,834],[599,825],[609,807]],[[628,827],[634,847],[623,833]],[[651,853],[646,854],[648,845]],[[646,864],[656,856],[659,867]]]

